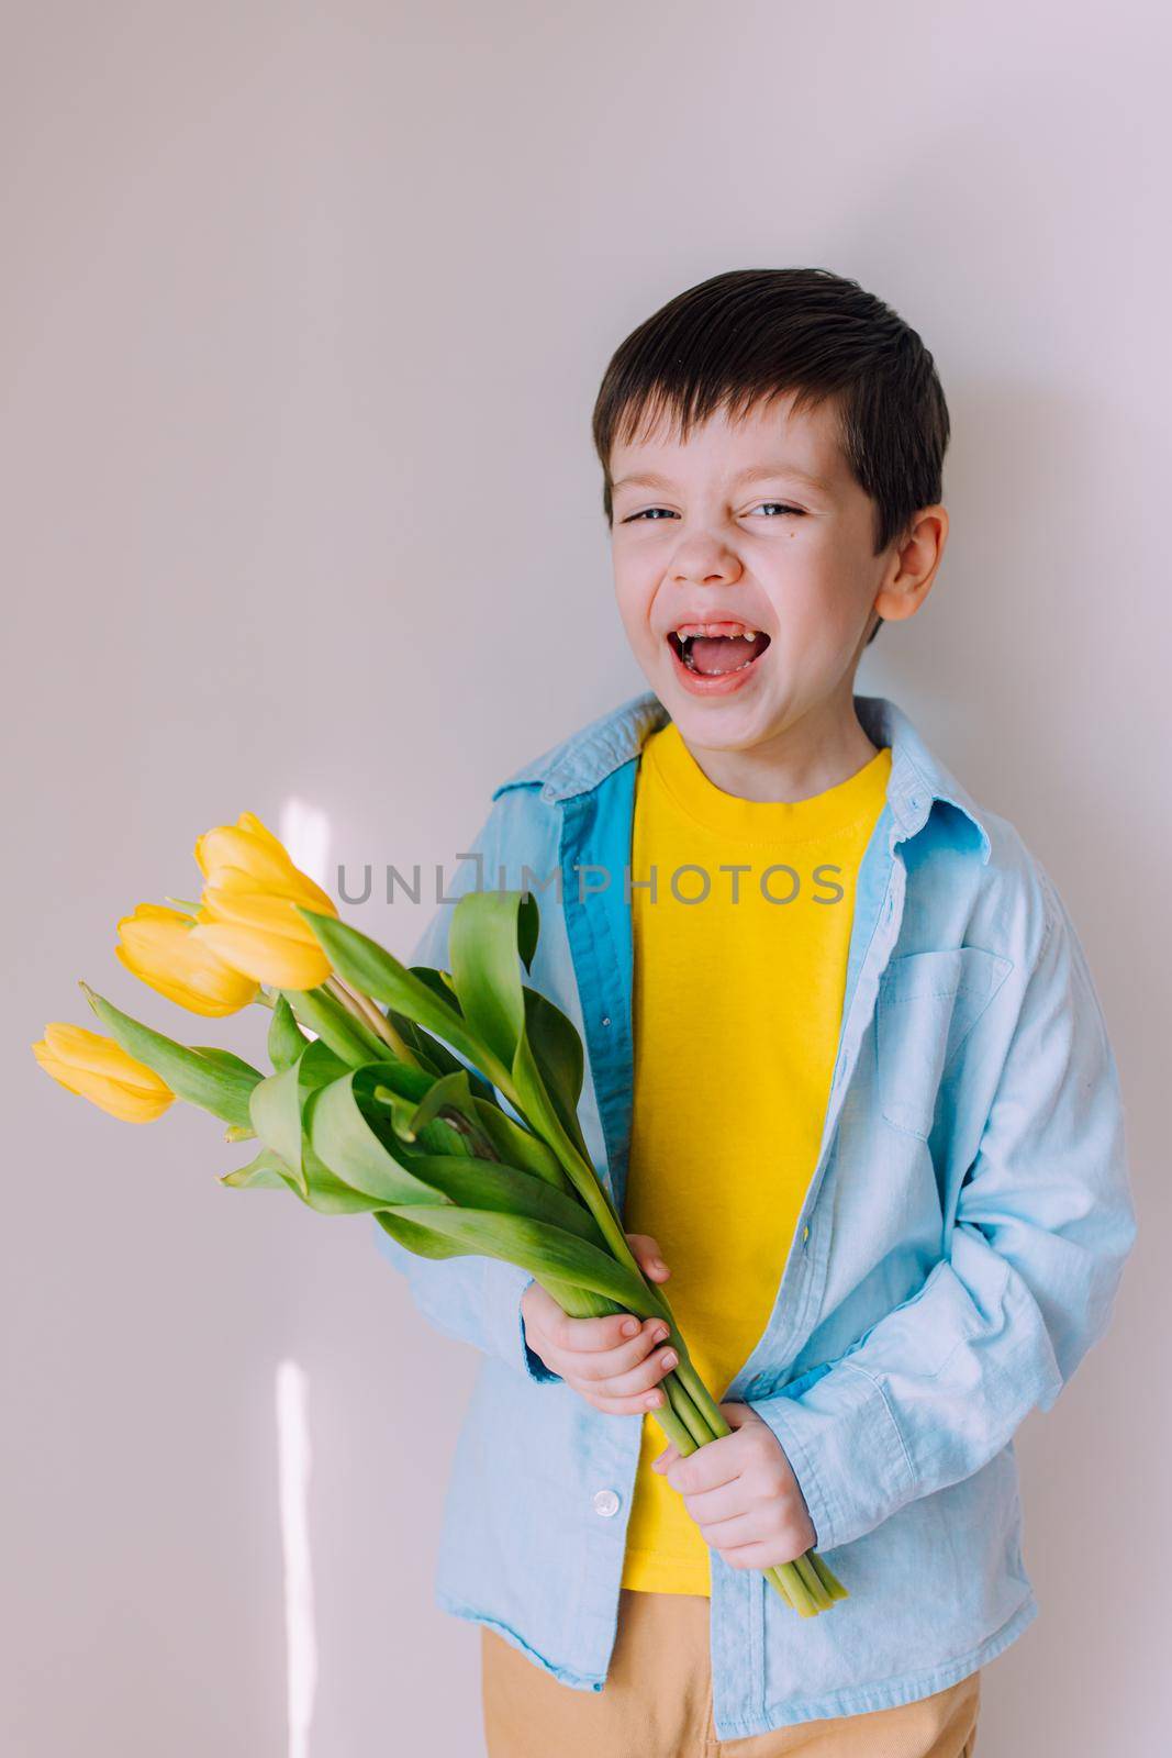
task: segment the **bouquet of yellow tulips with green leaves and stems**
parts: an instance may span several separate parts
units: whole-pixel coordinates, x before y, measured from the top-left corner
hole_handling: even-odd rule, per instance
[[[729,1433],[664,1292],[648,1283],[578,1123],[583,1048],[522,979],[538,944],[525,891],[473,891],[452,914],[452,970],[402,965],[343,923],[250,812],[195,844],[200,900],[139,904],[118,956],[190,1013],[271,1011],[272,1072],[190,1048],[81,984],[109,1035],[46,1027],[37,1060],[116,1118],[148,1123],[174,1099],[258,1143],[234,1188],[292,1190],[322,1215],[369,1213],[409,1252],[518,1264],[573,1317],[661,1317],[678,1366],[655,1420],[685,1456]],[[506,1109],[508,1106],[508,1109]],[[808,1551],[766,1570],[803,1617],[845,1598]]]

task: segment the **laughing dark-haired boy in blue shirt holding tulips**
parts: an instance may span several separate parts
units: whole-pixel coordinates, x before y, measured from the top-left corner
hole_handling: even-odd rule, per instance
[[[650,691],[501,782],[455,891],[538,895],[594,1164],[733,1433],[664,1447],[652,1320],[380,1232],[485,1352],[438,1603],[481,1624],[490,1758],[961,1758],[1037,1616],[1012,1435],[1135,1222],[1049,875],[854,694],[940,564],[947,406],[856,281],[745,271],[627,338],[594,438]],[[761,1570],[810,1545],[849,1598],[799,1619]]]

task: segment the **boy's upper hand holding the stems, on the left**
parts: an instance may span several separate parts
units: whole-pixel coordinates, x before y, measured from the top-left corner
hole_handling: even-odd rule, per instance
[[[627,1245],[648,1282],[668,1280],[671,1271],[648,1232],[629,1232]],[[662,1318],[640,1320],[633,1313],[571,1318],[538,1282],[522,1294],[520,1310],[534,1355],[596,1410],[641,1415],[662,1406],[657,1387],[676,1364],[675,1350],[659,1348],[668,1336]]]

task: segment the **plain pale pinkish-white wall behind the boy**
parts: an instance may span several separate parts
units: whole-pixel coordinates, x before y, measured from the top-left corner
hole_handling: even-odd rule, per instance
[[[7,1751],[286,1751],[283,1361],[307,1751],[480,1749],[476,1631],[430,1605],[474,1361],[365,1224],[220,1188],[211,1120],[127,1129],[28,1042],[88,1021],[77,976],[177,1018],[112,925],[190,895],[207,825],[297,796],[334,860],[452,860],[504,774],[643,687],[597,381],[684,287],[784,264],[937,357],[949,552],[859,687],[1047,863],[1130,1113],[1140,1245],[1019,1440],[1042,1617],[988,1670],[982,1758],[1163,1751],[1167,53],[1133,0],[7,12]]]

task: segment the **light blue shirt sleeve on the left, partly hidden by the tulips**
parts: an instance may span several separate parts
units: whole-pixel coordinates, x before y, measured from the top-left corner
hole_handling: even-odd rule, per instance
[[[460,851],[464,860],[457,877],[450,886],[445,884],[443,902],[406,963],[448,969],[448,930],[455,904],[478,884],[487,890],[496,883],[496,863],[501,860],[499,821],[501,814],[492,810],[473,839],[471,849]],[[452,1053],[459,1055],[455,1050]],[[406,1276],[411,1299],[429,1324],[445,1336],[473,1343],[487,1355],[497,1355],[538,1385],[564,1384],[561,1373],[550,1373],[525,1341],[520,1299],[536,1280],[527,1269],[506,1264],[499,1257],[420,1257],[392,1239],[378,1222],[374,1222],[374,1243]]]

